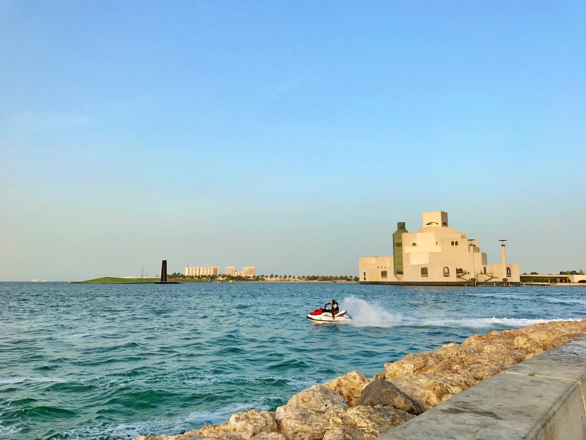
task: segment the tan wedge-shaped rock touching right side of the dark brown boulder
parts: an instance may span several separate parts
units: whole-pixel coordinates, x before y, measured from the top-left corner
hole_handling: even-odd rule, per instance
[[[411,397],[423,411],[448,400],[460,391],[476,383],[466,375],[454,374],[449,377],[431,374],[413,374],[395,377],[390,381]]]

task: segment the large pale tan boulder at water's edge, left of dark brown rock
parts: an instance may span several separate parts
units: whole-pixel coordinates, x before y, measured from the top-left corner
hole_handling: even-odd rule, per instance
[[[348,408],[346,402],[325,385],[314,385],[277,407],[275,419],[281,432],[292,439],[321,440],[331,418]]]

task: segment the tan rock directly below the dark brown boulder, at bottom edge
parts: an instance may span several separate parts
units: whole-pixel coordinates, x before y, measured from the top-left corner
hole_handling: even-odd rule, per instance
[[[342,418],[332,419],[323,440],[372,440],[413,417],[401,409],[357,405]]]

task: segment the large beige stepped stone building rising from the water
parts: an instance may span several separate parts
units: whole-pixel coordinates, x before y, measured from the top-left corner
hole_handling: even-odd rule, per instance
[[[399,285],[519,285],[519,265],[489,265],[480,243],[448,226],[444,211],[423,213],[423,228],[408,232],[399,222],[393,233],[393,255],[359,258],[360,283]]]

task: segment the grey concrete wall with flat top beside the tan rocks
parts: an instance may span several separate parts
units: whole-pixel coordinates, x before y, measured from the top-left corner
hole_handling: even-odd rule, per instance
[[[586,439],[586,336],[508,368],[377,440]]]

